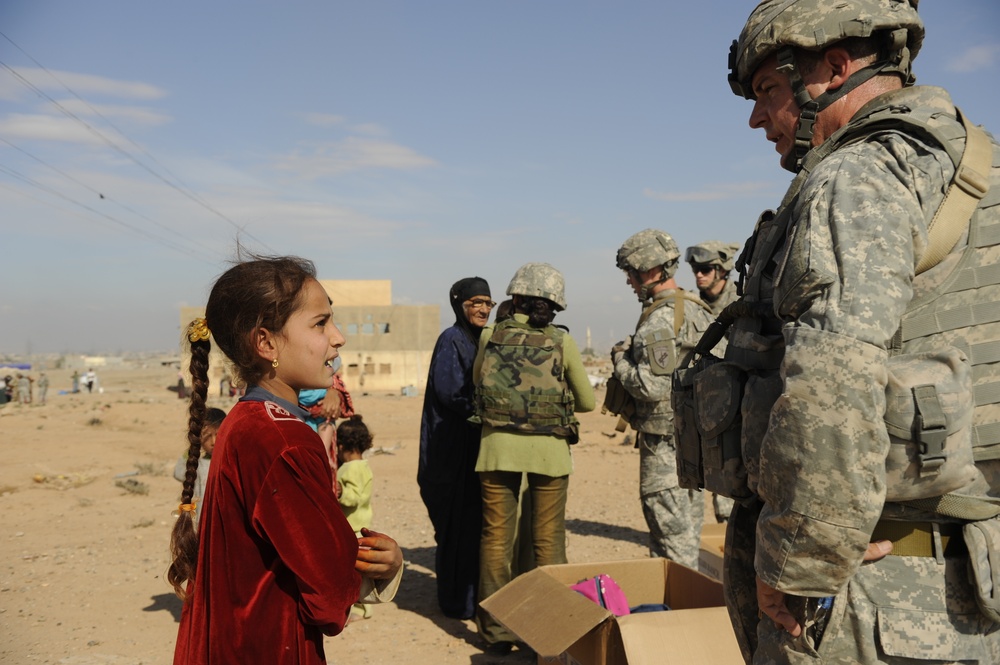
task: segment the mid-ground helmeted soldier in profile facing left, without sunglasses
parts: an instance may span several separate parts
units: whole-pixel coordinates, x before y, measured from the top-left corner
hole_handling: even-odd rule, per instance
[[[677,484],[671,374],[711,323],[708,306],[674,282],[680,252],[663,231],[636,233],[618,250],[617,265],[642,303],[635,334],[611,352],[614,376],[635,400],[629,424],[639,448],[639,492],[649,527],[649,552],[692,568],[704,520],[704,495]]]

